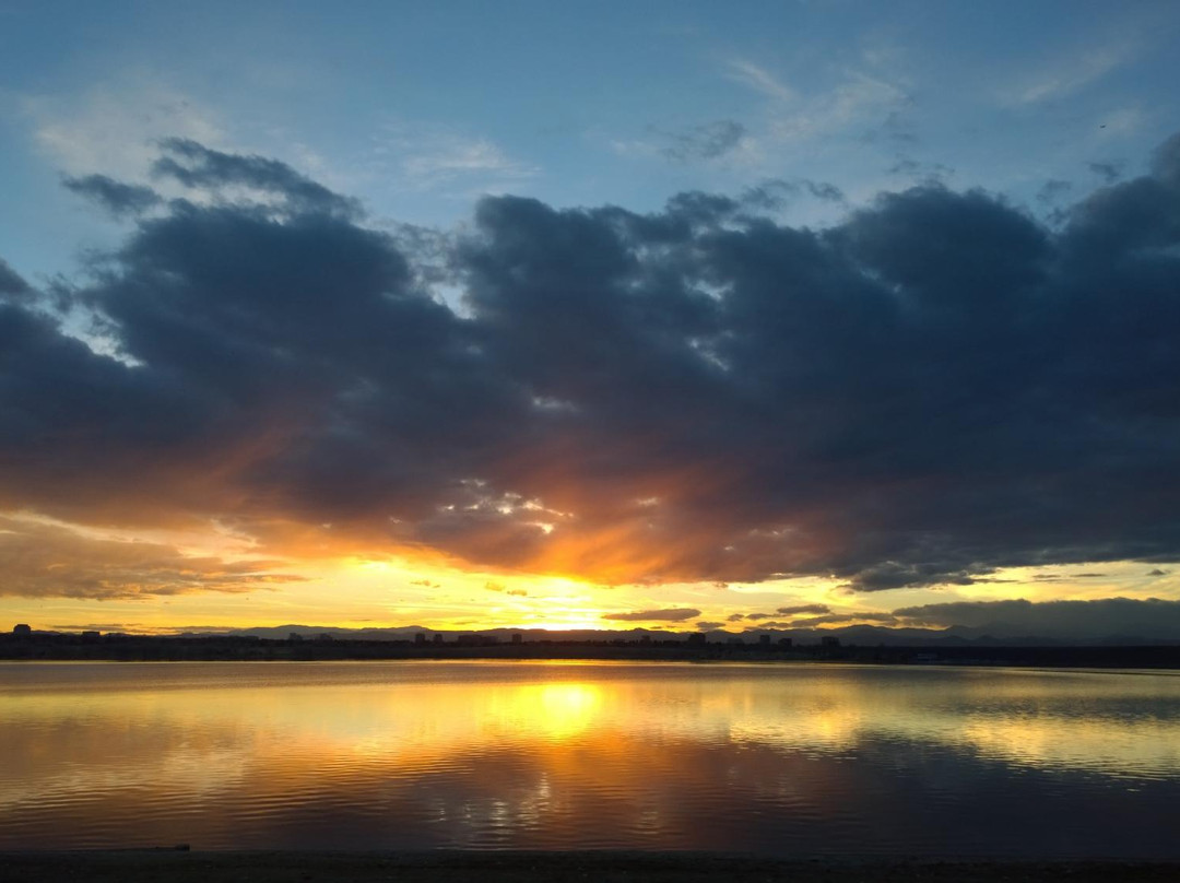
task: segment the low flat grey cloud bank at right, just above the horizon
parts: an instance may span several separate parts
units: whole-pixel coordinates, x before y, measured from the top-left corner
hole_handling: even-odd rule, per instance
[[[910,626],[965,626],[997,635],[1045,637],[1175,637],[1180,601],[1126,597],[1099,601],[962,601],[903,607],[894,616]]]

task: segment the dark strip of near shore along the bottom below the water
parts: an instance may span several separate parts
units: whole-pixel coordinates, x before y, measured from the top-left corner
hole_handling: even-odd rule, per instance
[[[0,852],[5,883],[990,883],[1180,879],[1180,862],[815,858],[635,852]]]

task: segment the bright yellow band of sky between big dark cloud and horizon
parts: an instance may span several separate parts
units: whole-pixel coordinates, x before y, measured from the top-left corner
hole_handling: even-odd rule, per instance
[[[166,530],[127,531],[79,528],[20,516],[21,523],[68,529],[120,549],[172,548],[179,561],[219,556],[229,564],[250,563],[257,552],[231,531],[206,534]],[[101,548],[106,549],[107,545]],[[1106,562],[1037,568],[1008,568],[966,586],[909,587],[854,593],[844,580],[798,577],[759,583],[677,582],[608,586],[544,574],[493,571],[445,562],[438,556],[414,560],[394,555],[275,558],[266,563],[289,582],[258,582],[235,590],[202,590],[186,584],[138,594],[117,587],[104,597],[54,593],[46,573],[40,594],[0,590],[0,622],[25,622],[34,629],[175,633],[282,624],[336,628],[421,626],[438,630],[481,628],[616,629],[635,627],[695,632],[697,623],[721,623],[733,632],[761,627],[839,627],[874,620],[903,607],[956,601],[1034,602],[1160,597],[1180,600],[1180,575],[1141,562]],[[19,562],[8,562],[7,570]],[[63,558],[45,568],[65,574]],[[170,567],[176,567],[175,562]],[[183,570],[183,567],[181,568]],[[125,571],[119,571],[125,573]],[[191,575],[190,575],[191,576]],[[199,574],[197,576],[201,576]],[[117,578],[118,573],[104,578]],[[0,580],[5,578],[0,563]],[[166,577],[157,577],[166,578]],[[7,583],[7,581],[5,581]],[[77,595],[77,594],[76,594]],[[780,608],[807,608],[786,614]],[[826,614],[821,608],[826,608]],[[675,611],[700,611],[686,615]],[[642,615],[649,611],[650,616]],[[669,613],[671,611],[671,613]],[[736,619],[738,615],[742,619]],[[748,617],[750,614],[755,616]],[[845,617],[815,622],[814,617]],[[623,619],[611,619],[622,616]],[[892,623],[900,624],[900,623]]]

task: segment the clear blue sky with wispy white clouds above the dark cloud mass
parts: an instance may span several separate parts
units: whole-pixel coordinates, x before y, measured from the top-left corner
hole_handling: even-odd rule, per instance
[[[1166,1],[4,0],[0,21],[0,241],[32,276],[117,235],[59,176],[146,179],[169,136],[419,224],[483,192],[651,210],[767,179],[839,188],[784,209],[824,224],[931,177],[1043,214],[1141,171],[1180,118]]]

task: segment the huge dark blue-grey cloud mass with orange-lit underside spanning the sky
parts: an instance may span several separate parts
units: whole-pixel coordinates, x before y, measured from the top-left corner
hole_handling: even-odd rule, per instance
[[[1174,561],[1178,143],[1053,229],[927,185],[826,230],[489,197],[447,238],[166,142],[194,198],[58,293],[118,359],[0,307],[0,505],[602,582]]]

